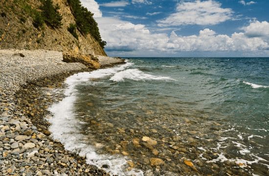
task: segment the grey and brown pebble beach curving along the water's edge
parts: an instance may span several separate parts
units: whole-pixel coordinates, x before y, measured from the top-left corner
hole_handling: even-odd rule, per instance
[[[108,175],[50,138],[46,109],[61,97],[42,89],[61,87],[67,76],[91,71],[62,60],[56,51],[0,50],[0,175]],[[101,67],[120,63],[100,59]]]

